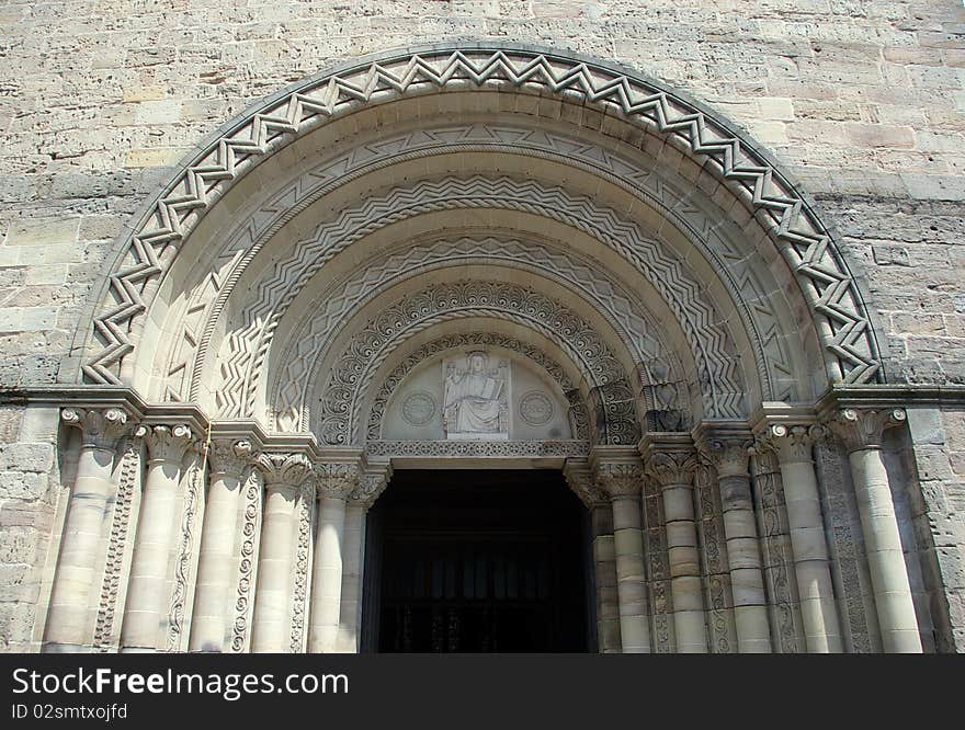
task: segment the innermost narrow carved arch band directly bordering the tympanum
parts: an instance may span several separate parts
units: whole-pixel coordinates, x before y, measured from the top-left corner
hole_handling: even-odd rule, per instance
[[[589,409],[579,391],[579,384],[574,383],[564,367],[549,357],[540,347],[523,340],[507,337],[498,332],[461,332],[446,334],[427,342],[411,352],[396,365],[384,378],[377,378],[382,386],[375,391],[367,408],[359,409],[355,421],[351,424],[353,441],[366,442],[383,438],[383,425],[386,408],[402,385],[406,376],[427,360],[436,357],[453,350],[473,346],[499,347],[514,352],[529,360],[535,367],[546,373],[564,392],[570,403],[569,423],[574,438],[591,440],[591,422]],[[366,418],[367,412],[367,418]],[[364,425],[364,434],[361,429]]]

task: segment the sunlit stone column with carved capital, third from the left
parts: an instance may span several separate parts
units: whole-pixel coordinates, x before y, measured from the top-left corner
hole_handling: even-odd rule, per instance
[[[213,440],[208,450],[208,490],[201,533],[197,585],[189,651],[225,651],[230,641],[231,592],[241,476],[253,463],[251,443]]]

